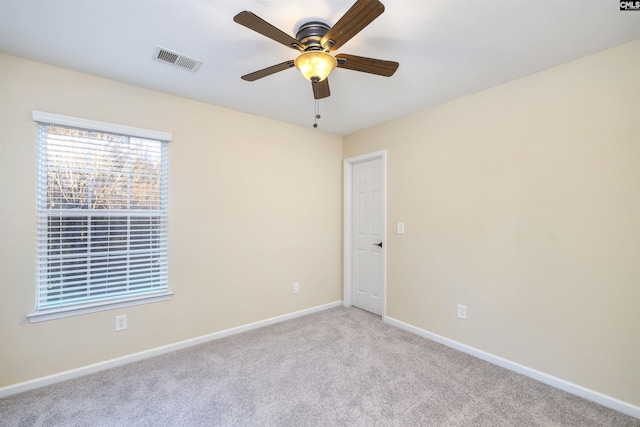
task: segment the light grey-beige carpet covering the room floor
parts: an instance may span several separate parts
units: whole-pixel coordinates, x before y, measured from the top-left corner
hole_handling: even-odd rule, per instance
[[[0,399],[0,425],[640,427],[640,420],[340,307]]]

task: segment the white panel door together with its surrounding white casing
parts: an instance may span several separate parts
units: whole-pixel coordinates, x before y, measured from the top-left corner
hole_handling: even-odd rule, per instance
[[[345,160],[344,300],[384,316],[386,151]]]

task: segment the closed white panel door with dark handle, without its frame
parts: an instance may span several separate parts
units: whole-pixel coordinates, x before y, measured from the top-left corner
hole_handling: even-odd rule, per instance
[[[384,171],[382,159],[352,168],[351,301],[382,315],[384,304]]]

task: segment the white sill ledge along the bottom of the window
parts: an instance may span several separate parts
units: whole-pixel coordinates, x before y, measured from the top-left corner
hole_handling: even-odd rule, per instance
[[[36,311],[27,315],[29,323],[44,322],[46,320],[61,319],[63,317],[79,316],[81,314],[96,313],[98,311],[115,310],[117,308],[131,307],[133,305],[151,304],[154,302],[168,301],[173,292],[140,295],[112,301],[95,302],[91,304],[76,305],[73,307],[52,308]]]

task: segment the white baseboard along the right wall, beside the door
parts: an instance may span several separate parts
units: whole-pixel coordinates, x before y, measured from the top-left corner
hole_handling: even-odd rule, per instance
[[[385,316],[383,320],[389,325],[404,329],[421,337],[443,344],[447,347],[451,347],[455,350],[459,350],[463,353],[467,353],[471,356],[477,357],[478,359],[493,363],[494,365],[501,366],[503,368],[509,369],[510,371],[517,372],[529,378],[533,378],[534,380],[538,380],[542,383],[548,384],[552,387],[558,388],[576,396],[583,397],[585,399],[591,400],[592,402],[599,403],[600,405],[606,406],[607,408],[611,408],[618,412],[622,412],[623,414],[640,419],[640,407],[638,406],[607,396],[597,391],[590,390],[577,384],[570,383],[563,379],[556,378],[554,376],[545,374],[544,372],[536,371],[535,369],[531,369],[510,360],[503,359],[502,357],[495,356],[482,350],[470,347],[466,344],[462,344],[449,338],[445,338],[441,335],[437,335],[424,329],[420,329],[408,323],[401,322],[400,320],[396,320],[388,316]]]

